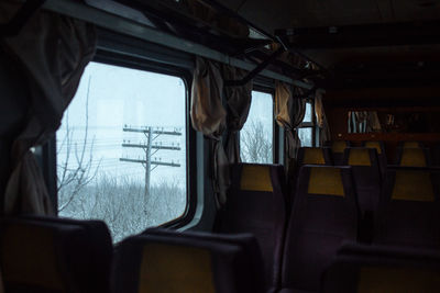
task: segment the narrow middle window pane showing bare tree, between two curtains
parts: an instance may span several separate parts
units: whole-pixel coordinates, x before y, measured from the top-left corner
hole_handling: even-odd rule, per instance
[[[240,132],[240,156],[244,162],[273,162],[273,97],[252,91],[248,121]]]

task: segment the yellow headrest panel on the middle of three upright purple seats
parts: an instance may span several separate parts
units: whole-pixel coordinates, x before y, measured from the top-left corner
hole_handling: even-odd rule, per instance
[[[310,167],[308,193],[345,196],[341,170],[331,167]]]

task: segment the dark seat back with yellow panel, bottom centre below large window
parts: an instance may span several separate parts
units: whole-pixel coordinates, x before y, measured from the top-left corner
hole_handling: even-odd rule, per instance
[[[237,236],[239,237],[239,236]],[[198,237],[144,234],[116,253],[114,292],[264,292],[240,245]]]

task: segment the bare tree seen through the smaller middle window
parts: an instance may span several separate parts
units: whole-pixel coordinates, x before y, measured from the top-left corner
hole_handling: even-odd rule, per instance
[[[249,127],[240,132],[242,160],[261,164],[272,162],[272,143],[265,133],[263,123],[261,121],[250,121],[249,123]]]

